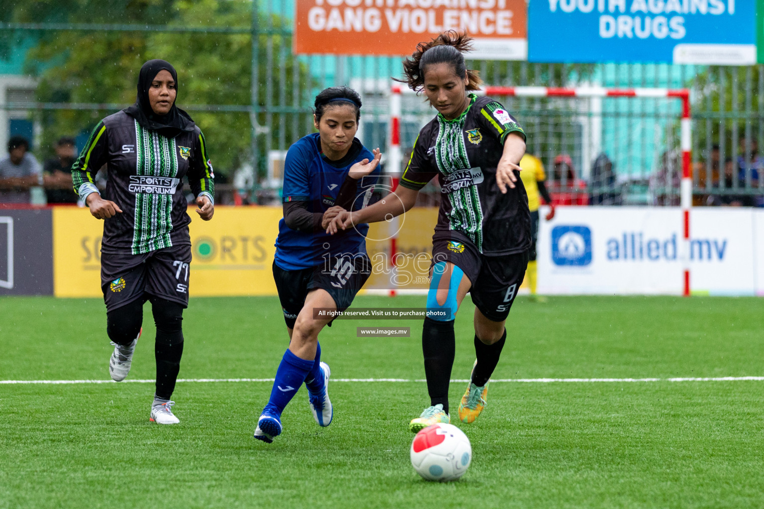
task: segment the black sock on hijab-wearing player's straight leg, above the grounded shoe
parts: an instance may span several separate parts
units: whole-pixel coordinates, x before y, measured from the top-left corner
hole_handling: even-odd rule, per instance
[[[183,306],[173,301],[151,298],[151,311],[157,324],[157,398],[169,400],[175,390],[183,356]]]

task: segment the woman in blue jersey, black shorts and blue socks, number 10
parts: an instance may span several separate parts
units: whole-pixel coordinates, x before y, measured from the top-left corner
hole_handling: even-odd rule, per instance
[[[290,346],[254,430],[254,437],[267,443],[281,433],[281,413],[303,382],[316,422],[319,426],[332,422],[330,372],[321,362],[318,335],[331,324],[333,311],[350,306],[371,274],[368,225],[340,236],[325,232],[339,212],[368,205],[377,182],[381,154],[355,138],[360,118],[358,92],[348,87],[324,89],[316,96],[313,115],[319,132],[301,138],[286,153],[284,217],[273,269]],[[314,314],[319,308],[325,314]]]

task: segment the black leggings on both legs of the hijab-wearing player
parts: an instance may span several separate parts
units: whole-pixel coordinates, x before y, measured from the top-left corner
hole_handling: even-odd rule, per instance
[[[183,305],[149,295],[157,340],[154,357],[157,359],[157,398],[170,399],[180,371],[183,356]],[[106,333],[118,345],[129,345],[138,336],[143,323],[142,299],[125,304],[106,313]]]

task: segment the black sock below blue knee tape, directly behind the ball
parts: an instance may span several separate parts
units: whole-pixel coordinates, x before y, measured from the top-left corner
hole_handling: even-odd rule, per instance
[[[430,404],[442,404],[448,414],[448,382],[454,366],[456,340],[454,321],[435,321],[425,318],[422,326],[422,353],[425,357],[425,376]]]

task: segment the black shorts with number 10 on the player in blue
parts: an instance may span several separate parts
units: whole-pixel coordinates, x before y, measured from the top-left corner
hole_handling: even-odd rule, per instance
[[[299,270],[284,270],[274,261],[274,280],[286,327],[294,328],[297,315],[313,288],[329,292],[338,311],[345,311],[370,275],[371,259],[365,254],[332,257],[321,266]]]

